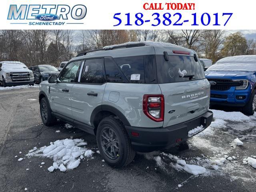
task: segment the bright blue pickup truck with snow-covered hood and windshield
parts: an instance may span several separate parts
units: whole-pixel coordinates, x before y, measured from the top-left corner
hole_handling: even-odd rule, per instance
[[[247,115],[256,111],[256,55],[218,60],[205,76],[211,84],[211,105],[235,106]]]

